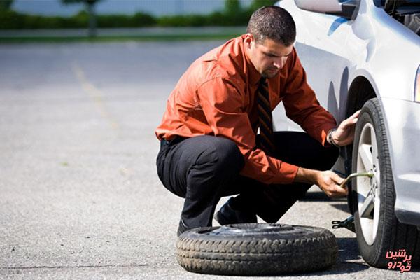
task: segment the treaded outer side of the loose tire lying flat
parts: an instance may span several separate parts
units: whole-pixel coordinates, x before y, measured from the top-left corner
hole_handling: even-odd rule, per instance
[[[309,237],[229,239],[226,236],[223,241],[187,232],[176,244],[176,258],[181,267],[206,274],[275,275],[314,271],[334,265],[337,255],[335,236],[324,229]]]

